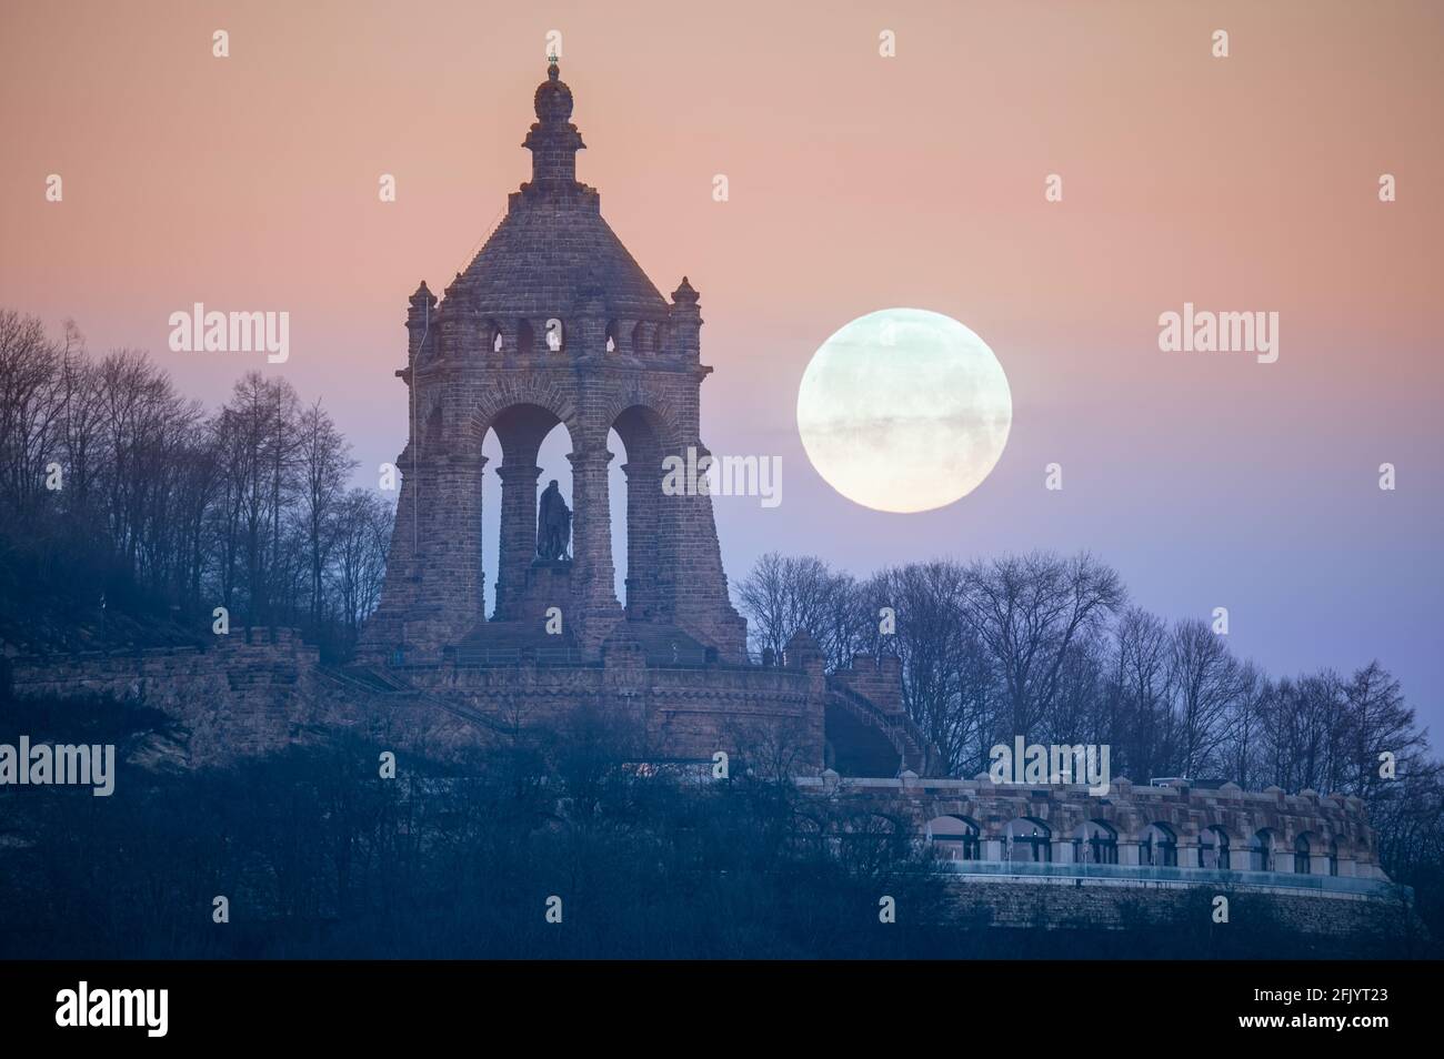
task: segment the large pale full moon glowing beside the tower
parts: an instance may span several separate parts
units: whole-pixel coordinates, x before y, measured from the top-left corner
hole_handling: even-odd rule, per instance
[[[992,349],[950,316],[882,309],[822,343],[797,431],[827,485],[875,511],[931,511],[998,465],[1012,392]]]

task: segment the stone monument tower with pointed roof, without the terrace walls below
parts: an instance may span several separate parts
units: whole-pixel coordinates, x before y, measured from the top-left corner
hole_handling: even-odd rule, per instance
[[[712,498],[666,495],[663,460],[699,437],[702,313],[686,277],[663,296],[576,179],[585,147],[553,61],[523,143],[531,179],[440,302],[425,283],[406,316],[410,437],[386,586],[362,652],[409,661],[448,648],[566,646],[585,658],[622,632],[644,651],[745,659]],[[537,452],[557,424],[572,452],[570,541],[539,537]],[[482,439],[503,459],[495,610],[484,613]],[[627,452],[625,599],[614,587],[608,431]],[[557,508],[549,501],[549,515]],[[542,547],[542,541],[549,541]],[[546,553],[546,554],[543,554]],[[560,610],[560,636],[547,615]],[[625,626],[622,623],[625,622]],[[709,651],[710,649],[710,651]]]

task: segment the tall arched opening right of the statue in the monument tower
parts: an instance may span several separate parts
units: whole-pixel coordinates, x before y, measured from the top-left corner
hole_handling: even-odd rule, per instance
[[[608,434],[625,454],[611,463],[619,475],[612,479],[612,554],[622,586],[618,594],[634,622],[667,618],[660,596],[661,574],[671,561],[661,495],[664,437],[666,423],[645,405],[625,408]]]

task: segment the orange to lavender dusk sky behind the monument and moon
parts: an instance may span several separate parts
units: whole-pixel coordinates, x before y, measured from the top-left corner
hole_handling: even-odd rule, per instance
[[[9,3],[0,304],[149,348],[211,404],[264,365],[170,353],[169,315],[287,310],[266,369],[394,457],[406,297],[527,177],[549,29],[580,179],[663,291],[702,293],[705,440],[787,466],[780,508],[719,501],[734,577],[773,547],[858,571],[1092,547],[1168,616],[1236,602],[1242,654],[1378,655],[1444,720],[1444,4]],[[1279,362],[1160,353],[1186,300],[1279,312]],[[862,511],[797,443],[809,356],[887,306],[962,320],[1012,388],[993,478],[940,512]]]

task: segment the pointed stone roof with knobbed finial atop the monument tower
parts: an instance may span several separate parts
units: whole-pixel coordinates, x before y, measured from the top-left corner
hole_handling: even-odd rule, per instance
[[[666,319],[667,302],[602,219],[596,190],[576,180],[585,144],[556,62],[536,91],[536,113],[523,144],[531,180],[511,195],[507,216],[446,289],[448,300],[504,320],[562,316],[599,297],[614,316]]]

